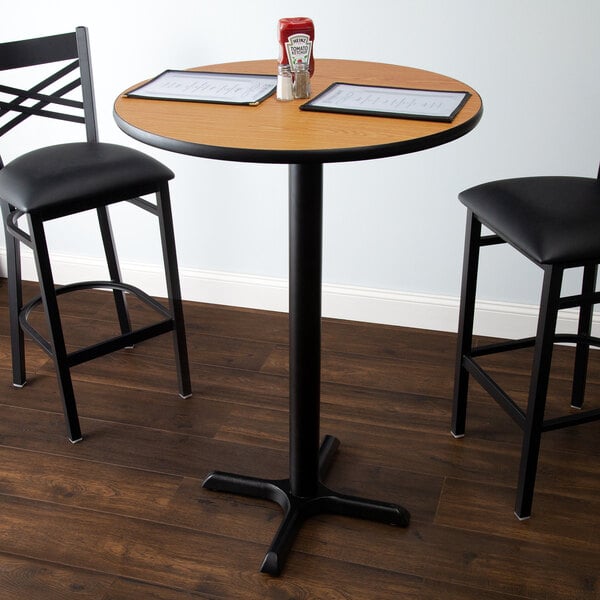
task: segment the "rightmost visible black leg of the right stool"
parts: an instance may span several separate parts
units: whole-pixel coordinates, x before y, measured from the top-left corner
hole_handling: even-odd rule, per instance
[[[588,265],[583,269],[583,281],[581,284],[582,302],[579,308],[579,324],[577,335],[579,341],[575,350],[575,367],[573,369],[573,389],[571,395],[571,406],[581,408],[585,395],[585,384],[587,380],[588,358],[590,345],[587,340],[592,335],[592,317],[594,314],[593,294],[596,291],[596,277],[598,265]]]

